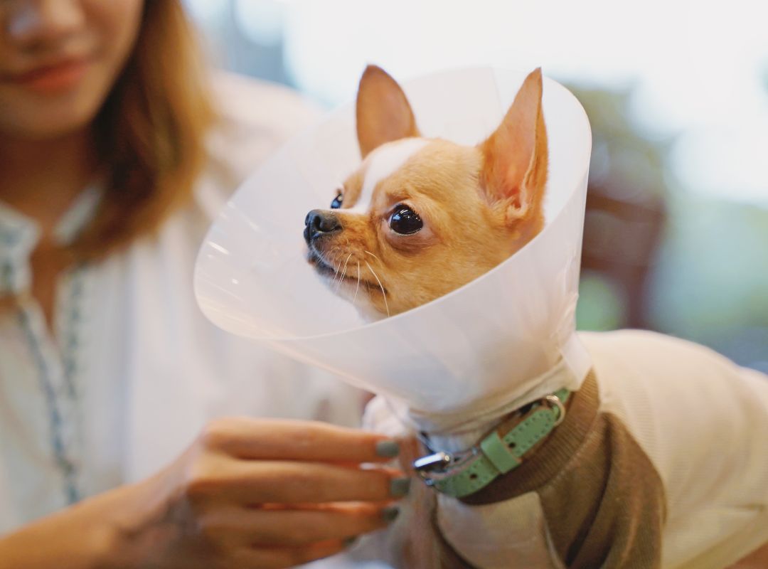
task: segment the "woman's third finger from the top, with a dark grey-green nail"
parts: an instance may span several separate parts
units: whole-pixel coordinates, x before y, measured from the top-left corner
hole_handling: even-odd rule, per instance
[[[398,513],[397,506],[366,503],[311,510],[229,508],[207,514],[200,531],[230,547],[301,547],[385,528]]]

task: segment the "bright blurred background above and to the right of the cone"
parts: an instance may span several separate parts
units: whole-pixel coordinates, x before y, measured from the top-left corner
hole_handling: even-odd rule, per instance
[[[768,372],[768,2],[185,0],[221,68],[352,100],[541,66],[590,117],[581,329],[692,339]]]

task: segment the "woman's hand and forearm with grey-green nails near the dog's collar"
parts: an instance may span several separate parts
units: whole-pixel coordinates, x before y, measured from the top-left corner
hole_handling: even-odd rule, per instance
[[[361,465],[397,452],[381,435],[319,422],[220,419],[153,478],[0,540],[0,558],[16,552],[8,567],[51,567],[61,557],[46,564],[41,555],[47,534],[56,534],[55,543],[101,552],[98,563],[66,565],[73,569],[293,567],[343,551],[350,538],[396,517],[392,502],[407,493],[408,479]],[[79,530],[66,538],[68,528]]]

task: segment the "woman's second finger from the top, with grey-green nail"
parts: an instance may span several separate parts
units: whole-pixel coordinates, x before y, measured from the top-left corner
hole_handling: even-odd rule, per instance
[[[218,465],[218,466],[217,466]],[[410,481],[392,468],[347,468],[322,462],[222,461],[197,471],[187,494],[194,501],[235,504],[388,501]]]

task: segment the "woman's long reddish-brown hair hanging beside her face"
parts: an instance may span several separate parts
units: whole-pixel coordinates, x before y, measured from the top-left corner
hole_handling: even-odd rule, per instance
[[[104,256],[156,229],[189,199],[213,120],[180,0],[147,0],[136,45],[94,124],[104,196],[71,253]]]

